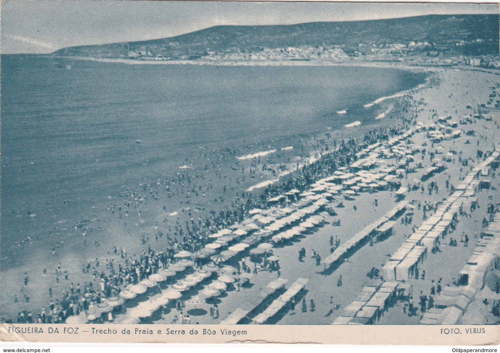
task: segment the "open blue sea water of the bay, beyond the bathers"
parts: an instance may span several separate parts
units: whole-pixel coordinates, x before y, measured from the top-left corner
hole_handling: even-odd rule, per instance
[[[249,145],[253,153],[365,122],[376,114],[362,115],[363,104],[423,80],[393,68],[2,55],[1,256],[27,236],[43,243],[54,223],[72,224],[120,187],[178,172],[203,150]]]

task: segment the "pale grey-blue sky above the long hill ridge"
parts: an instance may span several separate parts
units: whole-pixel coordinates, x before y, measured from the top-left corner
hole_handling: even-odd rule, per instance
[[[3,0],[1,53],[170,37],[217,24],[292,24],[424,14],[498,13],[496,4]]]

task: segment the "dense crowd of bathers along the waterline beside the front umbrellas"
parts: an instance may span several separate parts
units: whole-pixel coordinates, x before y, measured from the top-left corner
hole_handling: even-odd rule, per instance
[[[179,219],[177,219],[173,227],[170,227],[170,225],[167,226],[166,234],[161,230],[158,230],[155,234],[156,240],[163,240],[161,241],[162,246],[159,251],[151,248],[151,241],[148,237],[144,237],[142,241],[144,244],[148,243],[148,248],[143,249],[139,256],[135,254],[128,255],[124,247],[114,246],[110,254],[111,257],[112,255],[115,256],[111,259],[105,259],[105,268],[98,258],[95,261],[88,261],[86,264],[82,264],[82,273],[91,273],[91,280],[84,282],[81,286],[77,283],[76,287],[71,282],[70,289],[63,293],[62,298],[56,300],[54,305],[48,305],[49,310],[45,310],[45,308],[40,310],[36,314],[36,320],[41,320],[41,322],[63,322],[69,315],[78,314],[83,310],[92,308],[102,298],[118,295],[125,286],[137,283],[150,274],[156,273],[158,269],[167,267],[169,263],[175,261],[173,255],[176,252],[180,250],[196,251],[209,241],[208,236],[210,234],[230,224],[241,222],[248,216],[250,209],[267,207],[267,200],[269,198],[291,189],[305,190],[315,180],[330,175],[338,167],[353,162],[356,159],[355,153],[366,145],[387,140],[401,132],[401,129],[395,127],[376,128],[368,131],[362,137],[361,143],[359,140],[349,138],[340,141],[338,148],[336,141],[334,141],[333,150],[330,150],[327,145],[322,146],[318,152],[320,154],[318,160],[304,164],[298,172],[284,178],[280,184],[268,186],[257,196],[252,195],[251,192],[238,191],[237,197],[232,203],[232,208],[220,211],[219,213],[213,211],[207,212],[205,219],[198,217],[197,221],[194,221],[191,211],[187,210],[189,220],[186,220],[185,224],[180,224]],[[236,154],[236,151],[231,151],[231,153]],[[194,185],[193,183],[193,179],[196,180],[202,177],[201,174],[195,174],[193,177],[193,175],[177,173],[172,176],[171,183],[178,183],[180,186],[185,186],[186,189],[193,187],[197,189],[197,192],[202,192],[201,185]],[[223,178],[226,175],[220,175],[220,177]],[[166,185],[167,192],[173,191],[166,180],[158,180],[157,184]],[[208,183],[208,187],[213,187],[210,182]],[[152,185],[143,184],[142,191],[146,191],[146,193],[132,191],[131,189],[122,192],[120,196],[126,196],[128,199],[121,205],[111,203],[109,211],[111,213],[117,212],[118,217],[121,218],[130,216],[133,209],[133,212],[140,216],[140,212],[147,211],[148,201],[158,199],[156,194],[158,191],[154,190]],[[179,192],[182,193],[184,191],[181,188]],[[75,223],[74,227],[83,229],[82,237],[83,241],[86,242],[85,236],[89,228],[85,226],[85,221]],[[318,256],[319,254],[314,256],[316,263],[320,263],[320,257]],[[56,269],[57,279],[60,276],[59,271],[60,265]],[[67,274],[65,274],[64,278],[68,280]],[[51,289],[49,296],[52,296]],[[53,306],[53,308],[50,308],[50,306]],[[32,319],[28,317],[32,317],[30,312],[20,312],[18,320]]]

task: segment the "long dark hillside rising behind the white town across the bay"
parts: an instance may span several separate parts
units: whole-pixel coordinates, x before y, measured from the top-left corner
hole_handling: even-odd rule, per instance
[[[363,50],[360,47],[407,45],[414,41],[428,42],[425,50],[437,50],[444,55],[498,55],[499,31],[497,14],[426,15],[291,25],[221,25],[169,38],[68,47],[53,54],[127,57],[130,52],[146,51],[148,56],[186,59],[204,56],[207,52],[336,45],[353,55]]]

